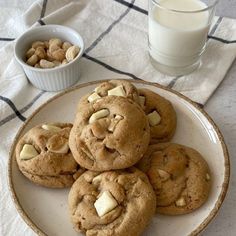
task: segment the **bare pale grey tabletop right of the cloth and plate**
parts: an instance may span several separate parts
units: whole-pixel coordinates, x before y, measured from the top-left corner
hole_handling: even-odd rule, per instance
[[[236,18],[236,1],[221,0],[217,15]],[[206,103],[206,112],[224,135],[231,161],[230,186],[217,217],[203,232],[207,236],[236,235],[236,61],[224,81]]]

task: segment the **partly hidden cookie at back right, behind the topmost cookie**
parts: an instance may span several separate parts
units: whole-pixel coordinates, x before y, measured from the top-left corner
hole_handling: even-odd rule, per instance
[[[167,99],[148,89],[139,89],[142,108],[148,116],[151,143],[169,141],[176,129],[176,113]]]

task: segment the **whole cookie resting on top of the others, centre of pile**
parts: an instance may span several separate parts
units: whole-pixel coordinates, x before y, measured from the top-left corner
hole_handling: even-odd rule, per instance
[[[134,165],[146,152],[149,140],[142,108],[124,97],[107,96],[77,113],[69,145],[82,167],[104,171]]]

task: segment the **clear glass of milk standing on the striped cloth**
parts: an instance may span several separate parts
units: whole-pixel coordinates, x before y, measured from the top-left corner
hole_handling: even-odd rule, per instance
[[[200,65],[218,0],[149,0],[149,55],[160,72],[180,76]]]

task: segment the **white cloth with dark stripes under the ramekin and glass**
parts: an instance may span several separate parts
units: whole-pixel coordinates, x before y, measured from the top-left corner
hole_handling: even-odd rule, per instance
[[[81,60],[83,70],[79,83],[114,77],[143,79],[173,88],[203,105],[223,80],[236,55],[235,20],[215,17],[202,67],[188,76],[168,77],[154,70],[149,62],[147,2],[1,1],[0,235],[34,235],[17,214],[7,191],[8,151],[26,118],[56,94],[29,84],[14,59],[14,39],[26,29],[62,24],[80,32],[86,50]]]

